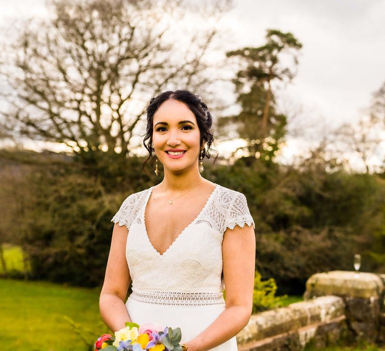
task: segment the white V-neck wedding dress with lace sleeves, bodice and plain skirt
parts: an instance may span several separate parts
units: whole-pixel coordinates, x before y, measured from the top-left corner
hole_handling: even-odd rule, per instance
[[[111,222],[127,226],[127,264],[132,293],[125,305],[131,321],[180,327],[180,343],[206,329],[224,310],[222,240],[227,228],[255,224],[246,197],[216,185],[196,219],[160,254],[152,246],[144,211],[152,188],[128,196]],[[236,337],[212,348],[237,351]]]

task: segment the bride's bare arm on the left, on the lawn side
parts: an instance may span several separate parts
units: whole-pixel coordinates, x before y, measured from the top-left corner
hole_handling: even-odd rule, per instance
[[[130,318],[124,304],[131,281],[125,257],[128,229],[114,225],[106,274],[99,297],[99,310],[104,323],[115,332],[125,327]]]

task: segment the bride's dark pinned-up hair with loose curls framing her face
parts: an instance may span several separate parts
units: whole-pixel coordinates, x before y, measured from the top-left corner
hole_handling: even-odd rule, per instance
[[[151,158],[152,151],[154,151],[154,148],[152,147],[152,132],[153,132],[152,124],[153,124],[154,114],[159,108],[159,106],[168,99],[174,99],[185,103],[197,118],[198,127],[201,132],[200,145],[202,145],[204,141],[206,142],[206,145],[207,145],[206,149],[204,148],[202,151],[202,158],[205,158],[205,157],[210,158],[211,156],[210,151],[215,151],[211,147],[211,144],[214,141],[214,135],[211,130],[211,126],[213,124],[213,117],[211,116],[207,105],[202,101],[201,97],[194,93],[191,93],[188,90],[175,90],[175,91],[168,90],[151,98],[150,103],[146,108],[147,126],[146,126],[146,133],[144,134],[143,145],[147,149],[149,156],[143,162],[144,171],[145,171],[144,165]],[[218,153],[217,153],[217,156],[218,156]],[[152,156],[152,159],[150,162],[151,166],[153,166],[154,159],[155,157]],[[217,157],[215,159],[217,159]]]

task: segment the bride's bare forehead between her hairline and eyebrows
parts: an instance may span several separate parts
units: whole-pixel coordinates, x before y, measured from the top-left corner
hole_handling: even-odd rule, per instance
[[[154,113],[153,123],[167,122],[173,123],[179,120],[188,119],[196,122],[196,117],[186,104],[174,99],[164,101]]]

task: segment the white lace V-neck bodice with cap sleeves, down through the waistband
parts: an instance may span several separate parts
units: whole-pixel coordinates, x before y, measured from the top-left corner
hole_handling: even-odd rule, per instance
[[[143,302],[175,305],[178,301],[186,304],[186,300],[192,305],[199,305],[200,301],[223,301],[224,233],[236,225],[255,228],[246,197],[216,185],[200,214],[160,254],[152,246],[144,225],[144,211],[152,188],[128,196],[111,220],[129,230],[126,259],[133,297]]]

